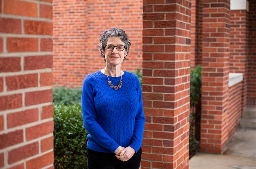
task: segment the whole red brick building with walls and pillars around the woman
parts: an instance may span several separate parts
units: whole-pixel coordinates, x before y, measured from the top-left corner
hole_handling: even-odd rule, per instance
[[[0,168],[53,167],[52,86],[104,67],[109,27],[143,72],[142,168],[188,168],[190,67],[202,65],[201,151],[223,153],[256,107],[254,0],[0,0]]]

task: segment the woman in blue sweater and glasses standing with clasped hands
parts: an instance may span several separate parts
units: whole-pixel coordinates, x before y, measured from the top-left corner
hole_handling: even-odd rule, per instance
[[[121,70],[130,40],[120,28],[101,34],[99,47],[106,66],[85,77],[83,122],[88,169],[138,169],[145,117],[136,75]]]

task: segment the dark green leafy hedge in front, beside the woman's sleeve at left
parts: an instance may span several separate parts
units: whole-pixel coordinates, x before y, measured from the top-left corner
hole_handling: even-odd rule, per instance
[[[55,168],[87,168],[87,134],[81,104],[54,105]]]

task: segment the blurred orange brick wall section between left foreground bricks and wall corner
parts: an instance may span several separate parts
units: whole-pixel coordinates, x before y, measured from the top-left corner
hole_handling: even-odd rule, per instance
[[[53,81],[81,86],[87,74],[87,1],[53,0]]]

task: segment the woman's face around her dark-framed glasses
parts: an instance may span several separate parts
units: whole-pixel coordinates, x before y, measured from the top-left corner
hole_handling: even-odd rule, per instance
[[[109,37],[106,44],[111,44],[113,46],[117,45],[124,45],[124,42],[121,41],[119,37]],[[106,48],[104,52],[102,52],[105,55],[106,63],[112,64],[112,65],[118,65],[121,64],[124,60],[124,57],[127,55],[126,49],[123,51],[118,51],[116,47],[112,51],[108,51]]]

